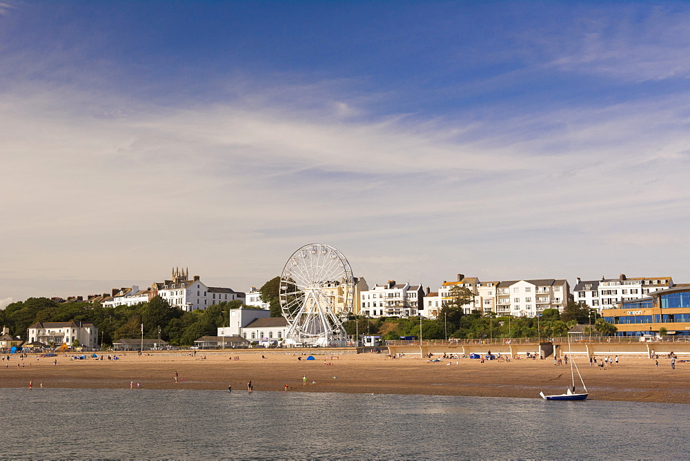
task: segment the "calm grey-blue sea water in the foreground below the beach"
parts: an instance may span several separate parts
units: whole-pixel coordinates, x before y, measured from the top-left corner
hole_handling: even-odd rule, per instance
[[[0,458],[690,458],[689,406],[0,389]]]

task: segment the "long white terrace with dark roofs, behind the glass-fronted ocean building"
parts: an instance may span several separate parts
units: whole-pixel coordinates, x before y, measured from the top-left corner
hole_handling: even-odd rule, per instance
[[[633,277],[620,274],[617,279],[582,280],[573,288],[573,300],[601,311],[617,308],[618,304],[637,300],[649,293],[673,288],[671,277]]]

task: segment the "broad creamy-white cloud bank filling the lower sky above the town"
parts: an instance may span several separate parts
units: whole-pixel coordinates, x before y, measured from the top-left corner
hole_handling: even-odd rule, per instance
[[[574,277],[565,255],[663,235],[653,227],[690,203],[688,107],[676,97],[471,124],[370,121],[339,104],[164,108],[68,88],[7,93],[0,250],[14,272],[0,288],[35,279],[22,293],[41,295],[40,279],[63,277],[99,293],[181,264],[242,289],[308,242],[342,246],[372,284],[433,286],[458,271]],[[654,240],[670,251],[687,233],[676,236]]]

